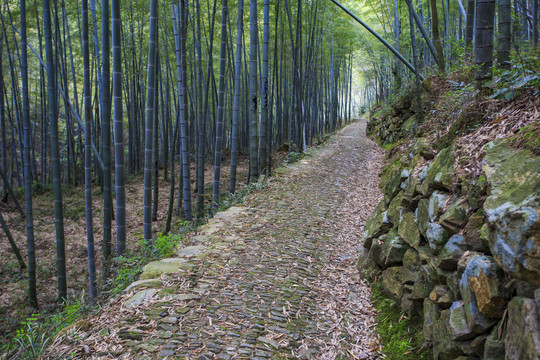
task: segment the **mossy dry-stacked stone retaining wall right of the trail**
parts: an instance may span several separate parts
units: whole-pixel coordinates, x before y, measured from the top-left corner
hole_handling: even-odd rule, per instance
[[[422,149],[389,165],[359,270],[423,319],[435,359],[540,359],[540,158],[494,140],[470,179],[453,146]]]

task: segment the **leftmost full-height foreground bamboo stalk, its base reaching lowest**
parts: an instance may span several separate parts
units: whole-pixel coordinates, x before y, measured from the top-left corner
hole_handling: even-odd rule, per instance
[[[24,132],[24,199],[26,210],[26,244],[28,253],[28,299],[38,307],[36,285],[36,253],[34,247],[34,217],[32,212],[32,160],[30,157],[30,101],[28,99],[28,54],[26,39],[26,0],[21,0],[21,81],[23,95]],[[1,90],[0,90],[1,91]]]

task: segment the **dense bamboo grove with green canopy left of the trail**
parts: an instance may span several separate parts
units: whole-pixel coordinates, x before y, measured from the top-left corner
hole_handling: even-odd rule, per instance
[[[61,301],[69,286],[62,188],[84,188],[96,298],[95,248],[109,260],[135,235],[126,230],[127,176],[144,174],[140,231],[151,248],[173,216],[203,217],[236,191],[241,154],[249,157],[249,181],[257,181],[270,175],[274,149],[302,152],[352,116],[356,39],[326,0],[5,0],[0,9],[2,198],[26,218],[27,264],[0,220],[27,266],[34,307],[33,189],[54,193]],[[204,182],[205,163],[214,164],[212,184]],[[159,176],[170,180],[168,204],[158,204]],[[93,187],[103,190],[99,219]],[[168,206],[166,229],[153,227],[159,206]]]

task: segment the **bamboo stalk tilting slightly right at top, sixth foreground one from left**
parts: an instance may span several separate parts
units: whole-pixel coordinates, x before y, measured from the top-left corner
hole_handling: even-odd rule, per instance
[[[148,39],[148,75],[146,85],[146,129],[144,150],[144,240],[152,243],[152,130],[154,121],[154,91],[156,87],[156,42],[158,0],[150,3],[150,34]]]

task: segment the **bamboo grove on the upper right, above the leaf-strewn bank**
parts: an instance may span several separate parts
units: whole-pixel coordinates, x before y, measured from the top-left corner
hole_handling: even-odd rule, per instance
[[[363,0],[355,13],[411,64],[409,71],[391,51],[367,35],[357,59],[364,77],[363,102],[371,104],[399,91],[423,74],[475,66],[476,79],[493,67],[509,69],[511,54],[538,49],[538,0]],[[536,50],[538,51],[538,50]],[[418,78],[415,80],[415,78]],[[420,81],[418,81],[420,80]]]

